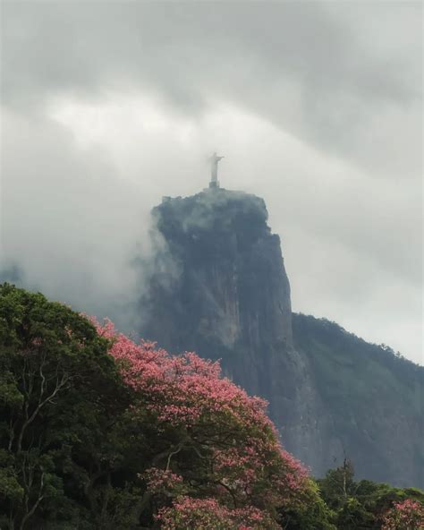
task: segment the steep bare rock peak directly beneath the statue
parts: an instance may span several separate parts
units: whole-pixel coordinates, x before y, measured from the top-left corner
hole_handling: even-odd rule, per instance
[[[264,201],[207,190],[165,198],[153,218],[160,244],[142,300],[142,335],[174,353],[221,359],[228,377],[269,401],[284,446],[313,473],[323,474],[344,453],[351,456],[356,441],[342,436],[331,399],[315,377],[313,346],[293,345],[290,286]],[[367,469],[362,475],[377,477]],[[393,483],[411,478],[393,479],[382,470],[385,476]]]

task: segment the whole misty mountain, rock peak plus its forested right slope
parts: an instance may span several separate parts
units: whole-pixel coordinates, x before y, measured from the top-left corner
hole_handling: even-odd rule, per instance
[[[280,238],[258,197],[164,198],[140,334],[220,359],[266,398],[284,447],[313,474],[348,457],[360,478],[424,486],[424,369],[335,323],[292,314]],[[369,316],[372,319],[372,315]]]

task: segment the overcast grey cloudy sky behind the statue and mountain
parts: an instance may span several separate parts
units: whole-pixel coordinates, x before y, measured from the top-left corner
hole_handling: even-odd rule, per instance
[[[422,363],[420,2],[1,8],[9,276],[129,319],[149,210],[219,150],[267,201],[293,310]]]

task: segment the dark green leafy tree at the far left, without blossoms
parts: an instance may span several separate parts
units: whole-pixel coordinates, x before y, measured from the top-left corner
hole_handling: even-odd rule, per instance
[[[0,286],[2,528],[98,517],[93,487],[119,459],[114,426],[128,403],[107,348],[64,304]]]

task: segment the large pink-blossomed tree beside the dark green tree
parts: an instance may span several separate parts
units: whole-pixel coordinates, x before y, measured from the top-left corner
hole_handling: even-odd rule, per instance
[[[135,344],[111,322],[111,340],[131,407],[133,457],[140,496],[134,519],[167,529],[278,528],[278,513],[310,496],[307,471],[281,447],[266,402],[221,376],[219,363],[153,343]],[[132,438],[131,438],[132,437]],[[144,467],[144,468],[143,468]]]

